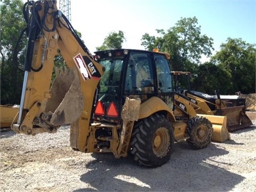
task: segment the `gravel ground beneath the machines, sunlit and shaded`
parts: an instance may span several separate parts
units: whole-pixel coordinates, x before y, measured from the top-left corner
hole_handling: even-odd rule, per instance
[[[256,118],[256,112],[251,113]],[[1,132],[1,191],[256,191],[256,121],[201,150],[175,143],[155,169],[69,147],[69,126],[36,136]]]

